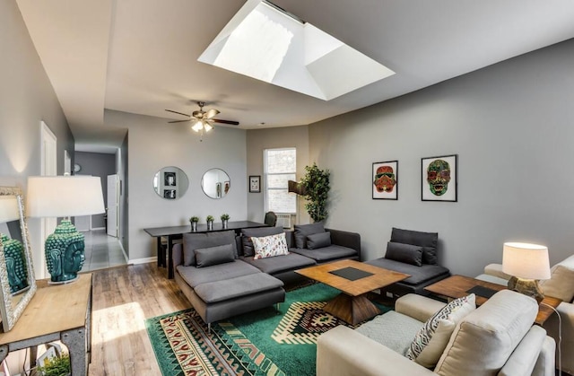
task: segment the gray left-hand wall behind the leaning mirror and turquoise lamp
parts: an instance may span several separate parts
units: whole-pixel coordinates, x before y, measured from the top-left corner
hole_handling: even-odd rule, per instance
[[[57,136],[57,172],[64,173],[64,151],[74,160],[74,137],[36,53],[15,1],[0,1],[0,185],[26,191],[27,178],[39,175],[40,121]],[[29,219],[35,265],[44,258],[39,219]],[[39,267],[36,275],[44,277]]]

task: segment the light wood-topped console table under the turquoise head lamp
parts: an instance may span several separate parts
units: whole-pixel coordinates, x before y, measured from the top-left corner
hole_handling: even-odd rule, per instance
[[[0,333],[0,362],[12,351],[30,347],[30,366],[36,348],[62,341],[70,354],[73,376],[88,374],[91,354],[91,274],[69,284],[38,281],[38,290],[12,330]]]

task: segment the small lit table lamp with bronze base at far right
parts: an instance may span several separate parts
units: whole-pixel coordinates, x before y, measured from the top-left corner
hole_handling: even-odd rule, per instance
[[[548,248],[537,244],[504,243],[502,271],[511,275],[509,290],[524,293],[542,302],[544,293],[538,280],[550,278]]]

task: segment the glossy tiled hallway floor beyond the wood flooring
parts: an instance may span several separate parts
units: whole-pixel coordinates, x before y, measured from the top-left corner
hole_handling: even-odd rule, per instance
[[[83,232],[85,237],[85,262],[82,271],[105,269],[126,265],[124,252],[117,238],[109,236],[105,230]]]

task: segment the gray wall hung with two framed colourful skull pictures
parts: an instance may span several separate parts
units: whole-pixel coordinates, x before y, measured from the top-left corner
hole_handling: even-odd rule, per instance
[[[476,275],[505,241],[572,254],[574,40],[309,126],[332,171],[328,225],[361,233],[366,259],[393,226],[439,232],[440,261]],[[458,202],[421,201],[421,158],[458,154]],[[371,163],[399,161],[397,201],[371,199]]]

